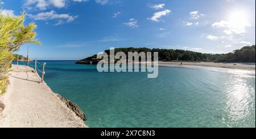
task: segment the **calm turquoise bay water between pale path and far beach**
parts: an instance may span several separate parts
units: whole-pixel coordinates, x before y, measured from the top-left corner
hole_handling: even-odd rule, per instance
[[[147,79],[74,63],[47,61],[45,80],[89,127],[255,127],[255,71],[159,67]]]

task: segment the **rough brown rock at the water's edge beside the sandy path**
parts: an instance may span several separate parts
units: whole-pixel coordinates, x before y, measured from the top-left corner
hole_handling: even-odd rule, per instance
[[[69,101],[68,99],[62,97],[60,94],[57,94],[57,93],[55,93],[55,94],[57,95],[58,98],[60,98],[61,101],[63,101],[68,106],[69,109],[71,109],[73,112],[75,112],[75,114],[77,116],[79,116],[79,118],[86,121],[84,112],[82,112],[81,108],[79,106],[77,106],[76,103]]]

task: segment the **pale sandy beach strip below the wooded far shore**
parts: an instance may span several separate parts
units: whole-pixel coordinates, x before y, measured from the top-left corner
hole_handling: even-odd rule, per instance
[[[181,62],[163,62],[159,61],[159,66],[180,66]],[[217,67],[217,68],[233,68],[255,70],[255,63],[214,63],[214,62],[182,62],[182,66],[197,67]]]

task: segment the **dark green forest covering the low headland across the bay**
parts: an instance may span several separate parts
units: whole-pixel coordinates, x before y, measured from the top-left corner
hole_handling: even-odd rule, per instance
[[[234,50],[233,53],[228,53],[228,54],[204,54],[204,53],[188,51],[188,50],[148,49],[145,47],[117,48],[115,49],[115,54],[118,53],[119,51],[122,51],[123,53],[125,53],[126,57],[128,55],[128,52],[138,52],[138,53],[158,52],[158,59],[163,61],[178,60],[178,61],[189,61],[189,62],[255,62],[255,45],[244,46],[242,47],[242,49]],[[110,54],[110,50],[105,50],[105,52],[108,55]],[[90,61],[95,58],[97,58],[97,55],[93,55],[92,57],[88,57],[79,61],[80,63],[83,63],[82,61]],[[85,63],[89,63],[89,62],[85,62]]]

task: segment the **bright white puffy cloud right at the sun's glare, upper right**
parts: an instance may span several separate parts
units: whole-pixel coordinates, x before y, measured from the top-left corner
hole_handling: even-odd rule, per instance
[[[246,32],[246,27],[251,27],[246,21],[241,21],[240,23],[234,23],[234,21],[224,21],[215,22],[212,24],[213,28],[226,28],[224,33],[226,34],[243,34]]]

